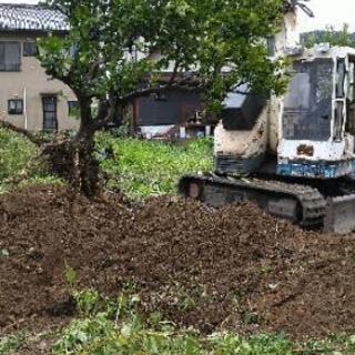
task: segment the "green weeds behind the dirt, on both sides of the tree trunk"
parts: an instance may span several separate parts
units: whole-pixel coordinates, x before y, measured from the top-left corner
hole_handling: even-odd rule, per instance
[[[132,199],[176,194],[180,176],[211,171],[213,162],[211,139],[173,144],[101,132],[95,151],[106,187],[120,189]],[[38,164],[38,154],[37,146],[27,139],[0,129],[0,192],[16,187],[16,183],[61,183]]]

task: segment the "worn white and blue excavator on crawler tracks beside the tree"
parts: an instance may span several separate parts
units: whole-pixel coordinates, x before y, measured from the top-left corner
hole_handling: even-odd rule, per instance
[[[355,230],[355,49],[304,49],[297,7],[285,0],[274,55],[292,59],[283,97],[230,93],[214,132],[214,171],[179,191],[212,207],[252,201],[304,229]]]

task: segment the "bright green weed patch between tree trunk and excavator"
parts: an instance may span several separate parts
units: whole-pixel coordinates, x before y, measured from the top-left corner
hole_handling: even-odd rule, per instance
[[[178,145],[100,134],[97,145],[99,152],[111,148],[111,154],[101,160],[108,186],[122,189],[132,199],[145,199],[175,194],[183,174],[212,171],[212,144],[211,139]]]

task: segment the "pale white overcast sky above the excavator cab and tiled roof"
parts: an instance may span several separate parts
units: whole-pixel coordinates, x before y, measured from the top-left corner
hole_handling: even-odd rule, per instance
[[[263,0],[260,0],[263,1]],[[1,2],[12,3],[37,3],[37,0],[0,0]],[[335,28],[342,28],[348,23],[355,31],[355,0],[310,0],[308,7],[314,11],[315,18],[310,19],[300,13],[300,31],[312,31],[324,29],[332,24]]]

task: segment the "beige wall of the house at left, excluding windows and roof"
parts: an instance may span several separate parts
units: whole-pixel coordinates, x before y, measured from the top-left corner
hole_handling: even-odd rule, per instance
[[[37,36],[1,33],[0,41],[19,41],[22,43]],[[33,57],[21,57],[20,72],[0,71],[0,115],[9,122],[26,128],[30,131],[41,131],[43,128],[42,95],[55,94],[58,98],[58,126],[59,130],[78,129],[79,120],[69,116],[68,101],[74,101],[72,91],[58,80],[51,80],[45,75],[40,62]],[[26,101],[26,114],[8,114],[8,100],[23,99]]]

